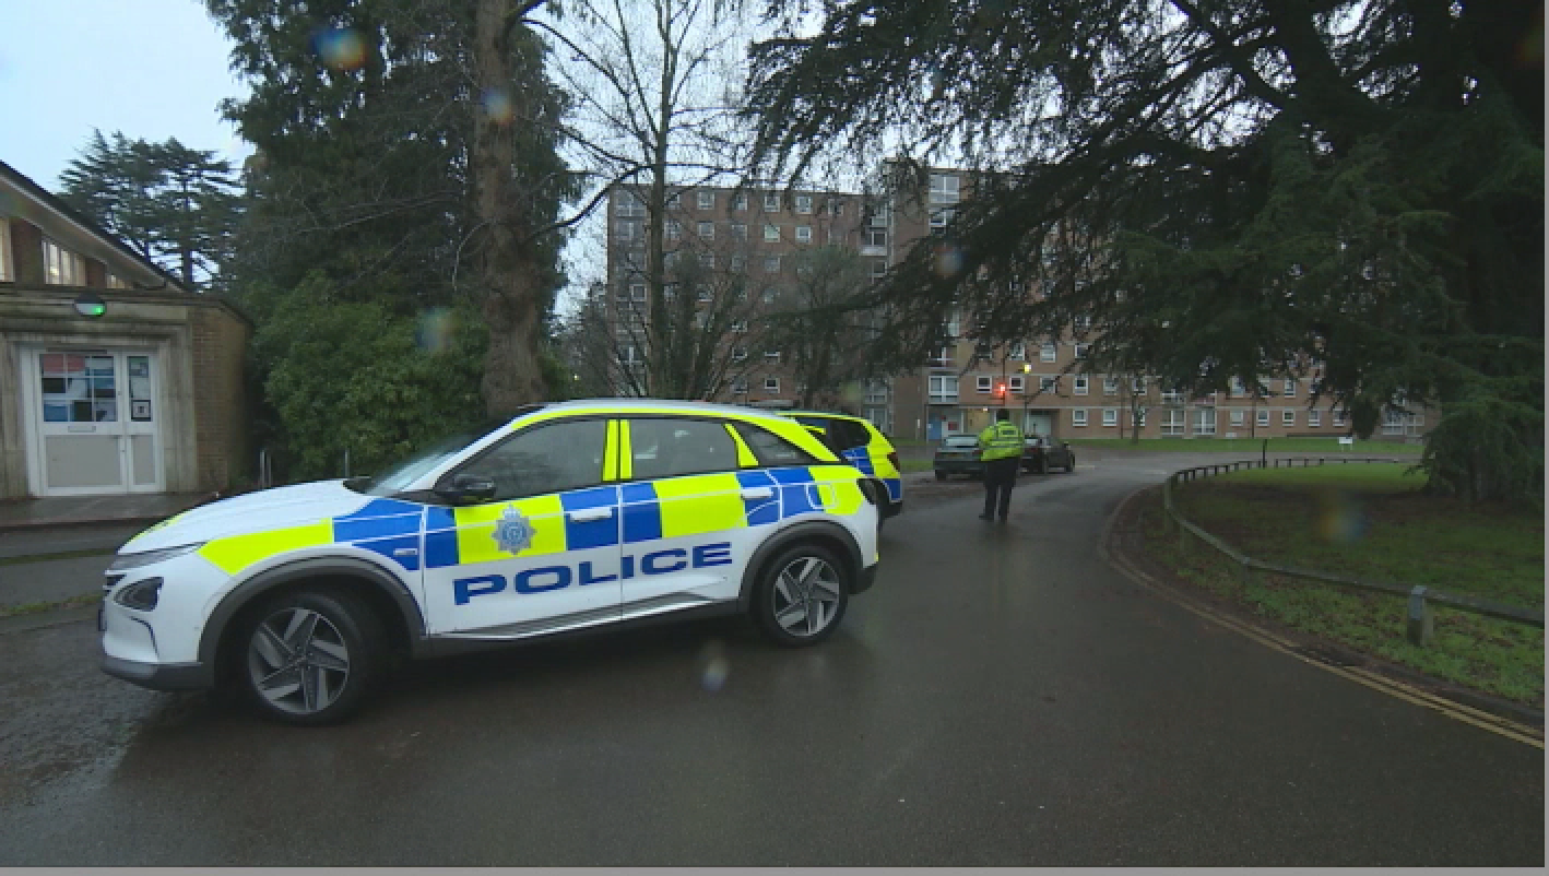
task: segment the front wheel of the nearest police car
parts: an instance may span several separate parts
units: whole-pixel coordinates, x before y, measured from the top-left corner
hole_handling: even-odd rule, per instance
[[[381,667],[381,621],[335,590],[282,594],[252,614],[243,642],[243,687],[268,718],[331,724],[366,701]]]

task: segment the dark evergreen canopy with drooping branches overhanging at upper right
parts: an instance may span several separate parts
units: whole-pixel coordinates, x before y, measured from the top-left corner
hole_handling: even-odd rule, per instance
[[[754,50],[761,161],[892,153],[900,197],[932,163],[970,170],[943,238],[869,302],[892,313],[877,356],[919,362],[951,306],[991,342],[1084,316],[1097,368],[1145,361],[1200,392],[1310,375],[1362,433],[1389,405],[1439,405],[1434,486],[1541,491],[1540,3],[771,14],[787,29]]]

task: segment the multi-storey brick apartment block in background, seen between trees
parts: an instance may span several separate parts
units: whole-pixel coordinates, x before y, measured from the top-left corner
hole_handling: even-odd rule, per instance
[[[750,285],[764,289],[765,302],[774,300],[779,285],[790,280],[790,254],[802,248],[846,246],[867,262],[872,277],[880,277],[909,248],[945,229],[971,189],[960,172],[936,170],[928,176],[926,192],[886,200],[853,192],[683,189],[669,204],[668,248],[680,245],[682,252],[691,254],[708,240],[730,238],[740,258],[726,266],[745,268]],[[638,262],[643,206],[627,192],[615,192],[609,212],[607,291],[623,314],[618,319],[649,319],[641,305],[644,280]],[[1030,433],[1063,438],[1128,438],[1137,427],[1142,438],[1335,438],[1349,432],[1345,413],[1331,401],[1309,404],[1312,385],[1306,378],[1261,378],[1262,398],[1236,384],[1228,392],[1183,398],[1154,381],[1086,371],[1081,368],[1086,344],[1069,333],[976,350],[962,336],[962,314],[951,319],[948,334],[954,340],[920,370],[858,384],[840,399],[826,399],[829,407],[860,413],[895,438],[976,433],[998,407],[1016,412]],[[728,344],[736,347],[739,340],[733,337]],[[748,351],[742,365],[714,395],[716,401],[796,404],[799,387],[778,350]],[[1419,440],[1424,430],[1424,413],[1389,412],[1377,435]]]

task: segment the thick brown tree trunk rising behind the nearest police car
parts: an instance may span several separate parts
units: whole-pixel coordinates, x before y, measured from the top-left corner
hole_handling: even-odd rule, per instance
[[[474,181],[474,212],[482,224],[479,282],[483,317],[489,328],[482,382],[485,412],[505,415],[524,404],[542,401],[544,376],[538,361],[539,277],[536,252],[524,243],[524,215],[511,187],[516,163],[516,128],[511,119],[528,118],[524,93],[511,82],[511,42],[507,28],[514,14],[511,0],[479,0],[474,34],[474,74],[480,101],[476,107],[474,147],[469,169]],[[491,118],[482,98],[505,94],[514,111]]]

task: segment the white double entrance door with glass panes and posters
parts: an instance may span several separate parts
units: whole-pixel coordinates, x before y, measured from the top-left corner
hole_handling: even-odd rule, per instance
[[[48,350],[36,365],[43,495],[164,489],[155,354]]]

